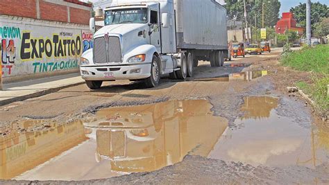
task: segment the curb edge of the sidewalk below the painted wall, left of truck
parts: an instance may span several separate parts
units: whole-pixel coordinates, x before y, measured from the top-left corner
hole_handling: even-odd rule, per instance
[[[47,95],[47,94],[51,94],[51,93],[60,91],[62,89],[68,88],[68,87],[74,87],[74,86],[77,86],[77,85],[82,85],[84,83],[85,82],[76,82],[76,83],[69,84],[69,85],[63,85],[61,87],[54,87],[54,88],[46,89],[46,90],[43,90],[43,91],[37,91],[33,94],[26,94],[24,96],[9,98],[7,100],[0,100],[0,106],[8,105],[9,103],[14,103],[14,102],[17,102],[17,101],[27,100],[27,99],[31,99],[31,98],[37,98],[37,97],[40,97],[40,96],[44,96],[44,95]]]

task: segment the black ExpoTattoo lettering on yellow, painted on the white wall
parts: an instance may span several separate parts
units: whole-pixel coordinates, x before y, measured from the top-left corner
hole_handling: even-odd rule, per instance
[[[81,54],[81,37],[60,37],[53,35],[49,38],[33,38],[31,33],[23,33],[21,58],[22,60],[48,58],[63,58]]]

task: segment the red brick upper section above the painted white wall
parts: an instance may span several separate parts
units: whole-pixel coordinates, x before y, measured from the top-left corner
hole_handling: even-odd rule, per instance
[[[78,0],[62,0],[62,4],[39,0],[39,8],[40,19],[88,25],[92,5]],[[37,19],[37,0],[0,0],[0,15]]]

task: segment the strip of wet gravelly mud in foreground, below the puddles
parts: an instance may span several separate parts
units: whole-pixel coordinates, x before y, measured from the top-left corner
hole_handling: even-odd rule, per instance
[[[188,169],[188,170],[183,170]],[[269,168],[187,156],[173,166],[151,173],[133,173],[81,182],[12,181],[8,184],[328,184],[328,166]],[[322,172],[322,173],[321,173]]]

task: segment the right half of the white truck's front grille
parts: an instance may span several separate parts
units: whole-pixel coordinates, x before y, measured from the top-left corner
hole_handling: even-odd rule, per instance
[[[119,37],[109,37],[108,62],[121,62],[121,45]]]

